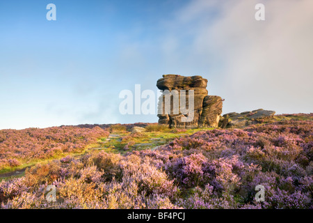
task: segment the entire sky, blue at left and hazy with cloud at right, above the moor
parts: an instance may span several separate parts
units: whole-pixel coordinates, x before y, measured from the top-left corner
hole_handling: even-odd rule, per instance
[[[48,3],[56,21],[46,19]],[[266,20],[254,19],[256,3]],[[312,1],[0,1],[0,129],[157,122],[120,91],[202,75],[223,113],[312,112]]]

